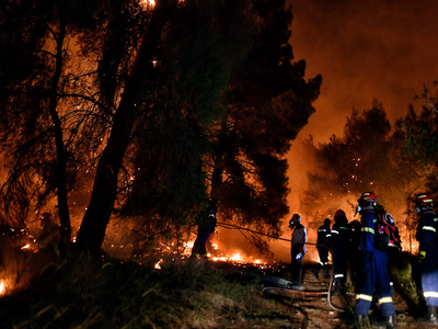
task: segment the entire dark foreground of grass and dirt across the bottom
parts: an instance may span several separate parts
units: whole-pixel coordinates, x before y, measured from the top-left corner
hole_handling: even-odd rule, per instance
[[[264,294],[283,265],[163,260],[161,269],[81,257],[48,266],[37,281],[0,298],[1,328],[355,328],[354,296]],[[325,291],[307,265],[303,286]],[[427,328],[394,295],[397,328]],[[371,316],[379,321],[378,309]],[[376,327],[378,328],[378,327]]]

